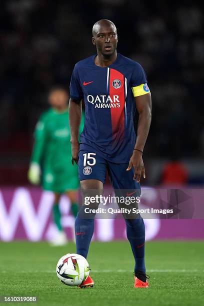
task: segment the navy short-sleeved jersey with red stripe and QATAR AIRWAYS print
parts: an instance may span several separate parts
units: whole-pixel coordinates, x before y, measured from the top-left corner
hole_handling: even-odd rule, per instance
[[[111,162],[128,162],[136,140],[134,96],[149,92],[146,75],[138,62],[119,53],[108,67],[95,65],[95,56],[78,61],[70,81],[70,97],[85,103],[80,149],[92,147]]]

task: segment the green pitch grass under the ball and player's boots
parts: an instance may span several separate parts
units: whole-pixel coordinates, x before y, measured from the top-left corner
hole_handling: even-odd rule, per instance
[[[150,287],[135,289],[128,242],[92,242],[87,259],[95,286],[79,289],[55,274],[59,257],[75,251],[73,243],[0,242],[0,295],[37,296],[36,305],[202,305],[203,250],[201,241],[147,242]]]

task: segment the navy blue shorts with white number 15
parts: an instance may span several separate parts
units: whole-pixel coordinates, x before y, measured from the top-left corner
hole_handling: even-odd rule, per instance
[[[101,157],[93,148],[81,149],[78,153],[78,177],[79,180],[98,179],[105,182],[106,170],[113,189],[139,189],[140,185],[133,180],[133,167],[126,171],[128,162],[114,163]]]

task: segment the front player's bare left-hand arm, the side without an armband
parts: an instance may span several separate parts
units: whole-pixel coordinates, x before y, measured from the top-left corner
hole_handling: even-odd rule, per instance
[[[81,120],[81,100],[69,99],[68,104],[68,115],[69,115],[69,126],[71,134],[71,162],[78,162],[78,134],[79,134],[79,125]]]

